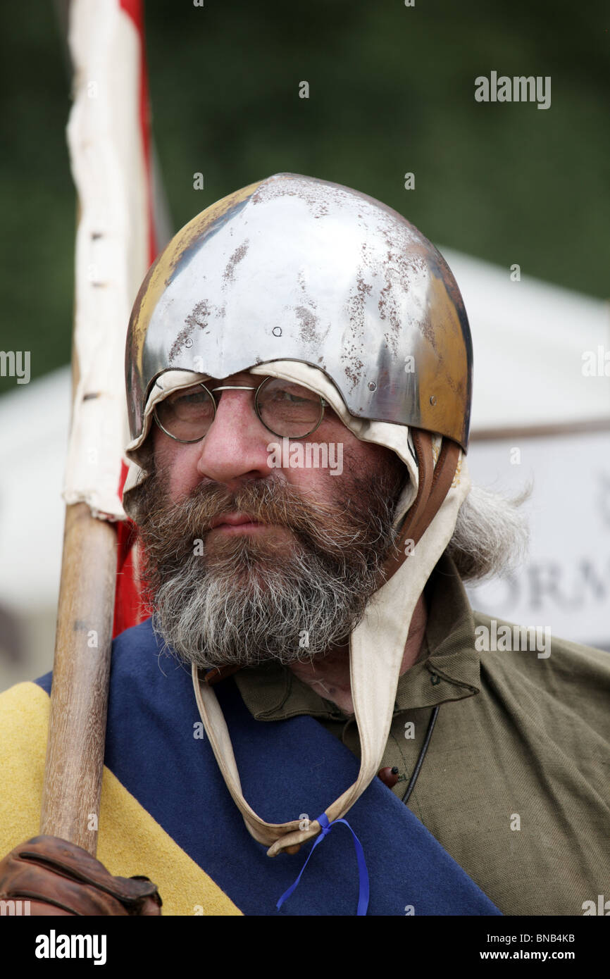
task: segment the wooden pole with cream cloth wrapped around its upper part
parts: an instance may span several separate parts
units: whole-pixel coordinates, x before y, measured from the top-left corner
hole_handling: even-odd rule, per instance
[[[146,107],[146,64],[141,0],[129,4],[74,0],[70,3],[69,13],[70,18],[65,19],[65,23],[67,26],[70,23],[69,49],[74,67],[75,101],[70,112],[68,137],[79,201],[78,230],[83,229],[83,233],[76,237],[79,287],[76,303],[82,305],[81,343],[76,343],[75,336],[72,340],[72,403],[75,404],[74,398],[97,397],[100,391],[105,396],[115,392],[118,397],[116,385],[111,383],[115,380],[114,374],[111,378],[104,372],[117,370],[122,375],[124,333],[117,346],[117,324],[122,322],[126,328],[125,296],[130,293],[135,296],[136,287],[154,258],[154,236],[152,228],[148,227],[152,208],[149,207],[148,122],[143,112]],[[134,31],[137,50],[133,44]],[[115,59],[127,50],[127,39],[133,61],[126,66],[129,70],[125,72],[125,84],[132,87],[125,89],[123,101],[111,79]],[[89,78],[96,79],[96,85],[99,82],[99,93],[96,87],[95,97],[89,93]],[[109,120],[113,121],[112,126],[109,126]],[[124,167],[119,179],[118,165]],[[143,180],[147,188],[146,202],[136,193],[143,186]],[[84,225],[81,224],[81,207]],[[103,216],[101,223],[99,215]],[[111,235],[114,243],[112,260],[101,231]],[[139,271],[138,263],[142,265]],[[89,269],[98,266],[96,281],[89,282]],[[110,274],[112,269],[115,271]],[[101,284],[108,288],[100,290]],[[95,341],[97,336],[98,343],[82,343],[84,329],[87,339]],[[98,358],[98,362],[96,350],[100,350],[99,341],[106,336],[110,346],[105,346],[104,356]],[[114,350],[112,356],[109,350],[111,353]],[[87,362],[79,364],[79,355],[85,356]],[[86,388],[78,385],[81,369],[86,373]],[[115,403],[118,401],[113,402],[113,406]],[[112,410],[110,414],[110,428],[113,430],[115,426],[118,432],[117,412]],[[95,417],[106,420],[100,413]],[[91,433],[91,441],[95,442],[91,423],[89,425],[89,428],[77,427],[78,438],[85,438],[82,433],[87,431]],[[71,472],[74,485],[70,486],[70,495],[71,498],[84,496],[89,499],[90,488],[85,486],[83,489],[82,473],[77,465],[82,463],[83,456],[74,450],[75,447],[81,447],[85,452],[95,446],[74,446],[70,439],[69,462],[71,459],[74,464]],[[108,440],[101,439],[98,447],[107,452]],[[116,461],[118,486],[118,442]],[[84,483],[87,483],[86,479]],[[116,506],[112,512],[120,516],[120,507]],[[116,575],[116,526],[92,517],[85,503],[67,506],[40,832],[69,840],[93,856],[97,849],[104,768]]]

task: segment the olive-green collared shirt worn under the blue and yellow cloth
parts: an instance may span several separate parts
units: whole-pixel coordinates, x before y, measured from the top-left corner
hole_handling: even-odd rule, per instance
[[[404,794],[441,705],[412,812],[505,914],[601,907],[598,895],[610,899],[610,656],[554,637],[550,655],[541,643],[502,651],[510,643],[493,635],[503,623],[472,611],[446,555],[426,600],[425,641],[399,679],[382,762],[399,769],[393,791]],[[482,626],[496,651],[478,651]],[[259,721],[311,715],[359,755],[353,718],[287,668],[235,678]]]

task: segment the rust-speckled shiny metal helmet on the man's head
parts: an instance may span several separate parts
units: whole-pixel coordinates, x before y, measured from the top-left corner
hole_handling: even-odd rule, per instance
[[[472,344],[445,259],[396,210],[278,173],[189,221],[146,276],[126,347],[131,437],[164,371],[321,370],[356,418],[468,443]]]

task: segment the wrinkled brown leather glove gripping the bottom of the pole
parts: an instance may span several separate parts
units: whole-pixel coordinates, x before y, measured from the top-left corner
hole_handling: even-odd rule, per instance
[[[0,861],[0,899],[28,900],[30,914],[153,915],[163,901],[148,877],[113,877],[57,836],[34,836]]]

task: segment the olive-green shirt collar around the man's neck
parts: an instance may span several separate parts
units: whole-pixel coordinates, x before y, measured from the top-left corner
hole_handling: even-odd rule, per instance
[[[428,622],[420,658],[399,678],[395,715],[417,707],[462,700],[479,692],[479,654],[468,597],[455,565],[445,553],[426,585]],[[372,654],[374,656],[374,654]],[[257,721],[284,721],[308,714],[327,721],[347,716],[275,663],[235,674],[239,691]]]

